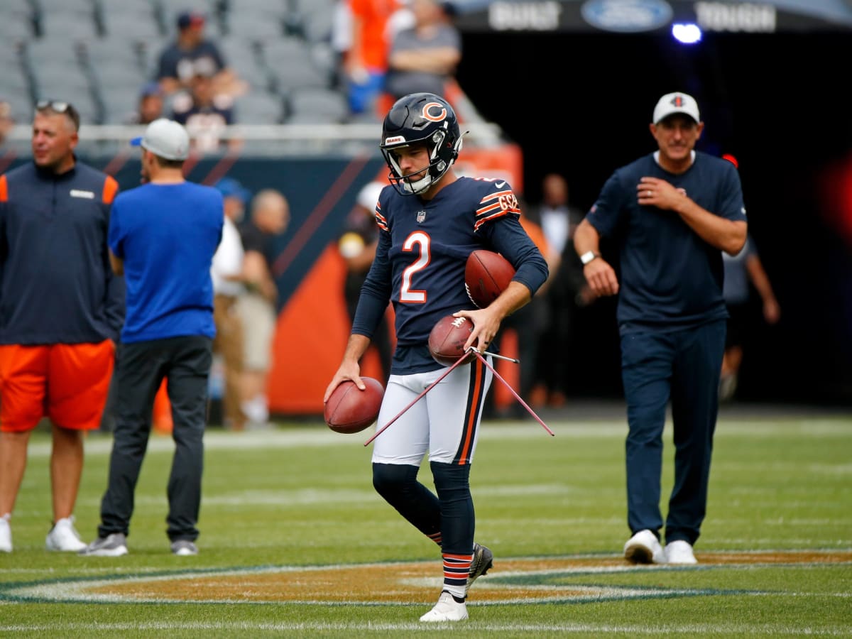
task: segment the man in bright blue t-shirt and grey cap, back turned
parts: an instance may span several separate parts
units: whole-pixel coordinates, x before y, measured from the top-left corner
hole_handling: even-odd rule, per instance
[[[166,533],[174,554],[195,555],[216,335],[210,265],[222,239],[222,193],[184,180],[189,135],[181,124],[160,118],[131,143],[143,149],[146,183],[115,199],[108,233],[112,270],[124,274],[127,291],[118,418],[98,538],[80,554],[127,553],[133,491],[151,435],[154,396],[167,378],[176,449]]]

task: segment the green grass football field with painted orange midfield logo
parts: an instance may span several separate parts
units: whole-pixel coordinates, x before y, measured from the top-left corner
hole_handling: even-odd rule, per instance
[[[154,436],[130,555],[118,558],[44,550],[49,435],[39,430],[14,511],[15,550],[0,553],[0,633],[852,636],[852,416],[724,412],[699,565],[629,567],[620,557],[629,536],[626,426],[607,415],[548,420],[555,437],[534,422],[483,424],[471,485],[476,538],[492,548],[495,565],[470,592],[470,619],[449,628],[417,622],[440,591],[440,556],[373,492],[371,447],[363,446],[371,430],[337,435],[320,421],[211,429],[195,557],[170,555],[172,444]],[[87,440],[76,512],[86,541],[95,536],[111,444],[109,435]],[[667,436],[665,496],[671,451]],[[428,465],[421,478],[431,485]],[[352,584],[353,574],[393,573],[395,562],[424,562],[434,581],[416,602],[394,601],[394,579]],[[533,569],[538,563],[552,567]],[[325,576],[321,593],[345,586],[360,594],[316,596],[317,575]],[[136,585],[149,594],[128,594]],[[230,590],[222,595],[220,585]]]

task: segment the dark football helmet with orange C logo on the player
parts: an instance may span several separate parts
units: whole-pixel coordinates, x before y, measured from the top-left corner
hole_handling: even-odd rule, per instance
[[[425,144],[429,150],[429,167],[403,175],[394,149],[412,144]],[[458,158],[462,135],[458,118],[450,103],[434,93],[413,93],[394,102],[382,125],[379,143],[388,163],[391,184],[402,195],[423,193],[444,176]]]

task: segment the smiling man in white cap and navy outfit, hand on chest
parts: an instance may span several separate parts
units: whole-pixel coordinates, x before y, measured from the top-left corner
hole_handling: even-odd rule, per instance
[[[719,371],[728,312],[722,251],[746,242],[746,208],[733,164],[694,150],[704,130],[690,95],[664,95],[653,110],[659,150],[616,170],[574,235],[596,295],[619,295],[621,371],[627,400],[625,558],[695,563],[704,521]],[[620,279],[601,255],[618,250]],[[675,484],[659,508],[666,406],[674,424]]]

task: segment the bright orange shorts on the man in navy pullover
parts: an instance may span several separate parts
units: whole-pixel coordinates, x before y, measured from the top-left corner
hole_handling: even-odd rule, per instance
[[[0,430],[34,429],[42,417],[66,429],[101,427],[115,345],[0,345]]]

